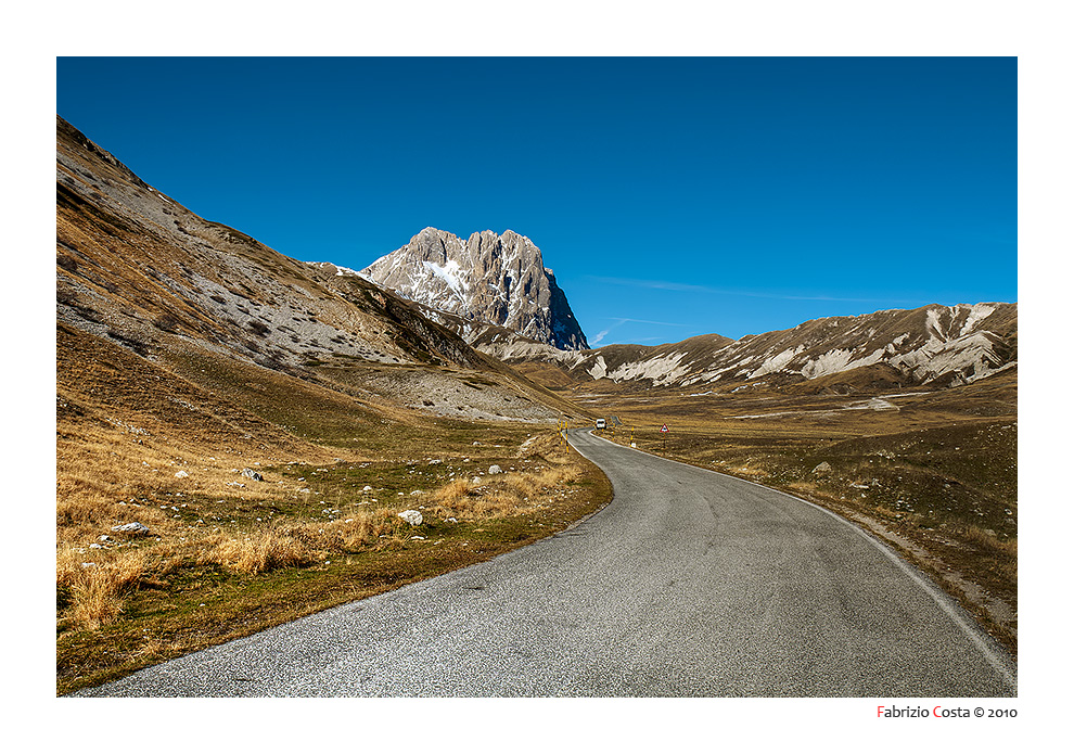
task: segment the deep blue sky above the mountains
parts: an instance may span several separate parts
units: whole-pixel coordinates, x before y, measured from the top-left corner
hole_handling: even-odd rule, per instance
[[[60,57],[56,112],[298,259],[528,235],[594,345],[1018,297],[1013,57]]]

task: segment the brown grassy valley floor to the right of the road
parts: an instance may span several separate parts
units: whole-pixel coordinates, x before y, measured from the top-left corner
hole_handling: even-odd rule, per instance
[[[605,437],[840,513],[931,575],[1017,653],[1013,375],[848,396],[597,385],[572,395],[622,422],[610,421]]]

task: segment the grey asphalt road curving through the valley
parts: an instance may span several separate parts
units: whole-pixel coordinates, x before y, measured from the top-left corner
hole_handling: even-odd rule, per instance
[[[571,439],[615,489],[574,528],[78,695],[1015,694],[1010,657],[844,520]]]

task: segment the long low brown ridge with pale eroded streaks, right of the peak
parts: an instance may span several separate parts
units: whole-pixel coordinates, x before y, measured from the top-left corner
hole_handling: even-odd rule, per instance
[[[583,382],[656,387],[778,386],[834,375],[890,386],[949,387],[1018,366],[1017,304],[933,304],[858,317],[827,317],[738,341],[701,335],[661,346],[563,352],[535,343],[482,348],[516,366],[551,363]]]

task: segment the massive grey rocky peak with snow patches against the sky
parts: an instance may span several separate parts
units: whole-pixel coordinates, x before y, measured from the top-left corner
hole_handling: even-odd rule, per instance
[[[502,328],[564,350],[589,347],[540,250],[511,230],[502,235],[486,230],[463,241],[425,228],[360,274],[452,315],[450,323],[461,324],[459,332],[470,343],[489,337],[490,328]]]

